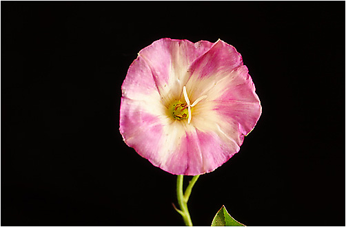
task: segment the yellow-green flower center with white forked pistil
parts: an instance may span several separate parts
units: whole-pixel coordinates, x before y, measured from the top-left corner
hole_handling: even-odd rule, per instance
[[[201,96],[197,98],[192,105],[190,104],[189,97],[187,96],[186,87],[183,87],[183,94],[185,98],[185,102],[176,101],[172,106],[172,114],[173,117],[181,120],[187,118],[187,124],[190,124],[192,119],[191,107],[194,107],[199,101],[207,98],[207,96]]]

